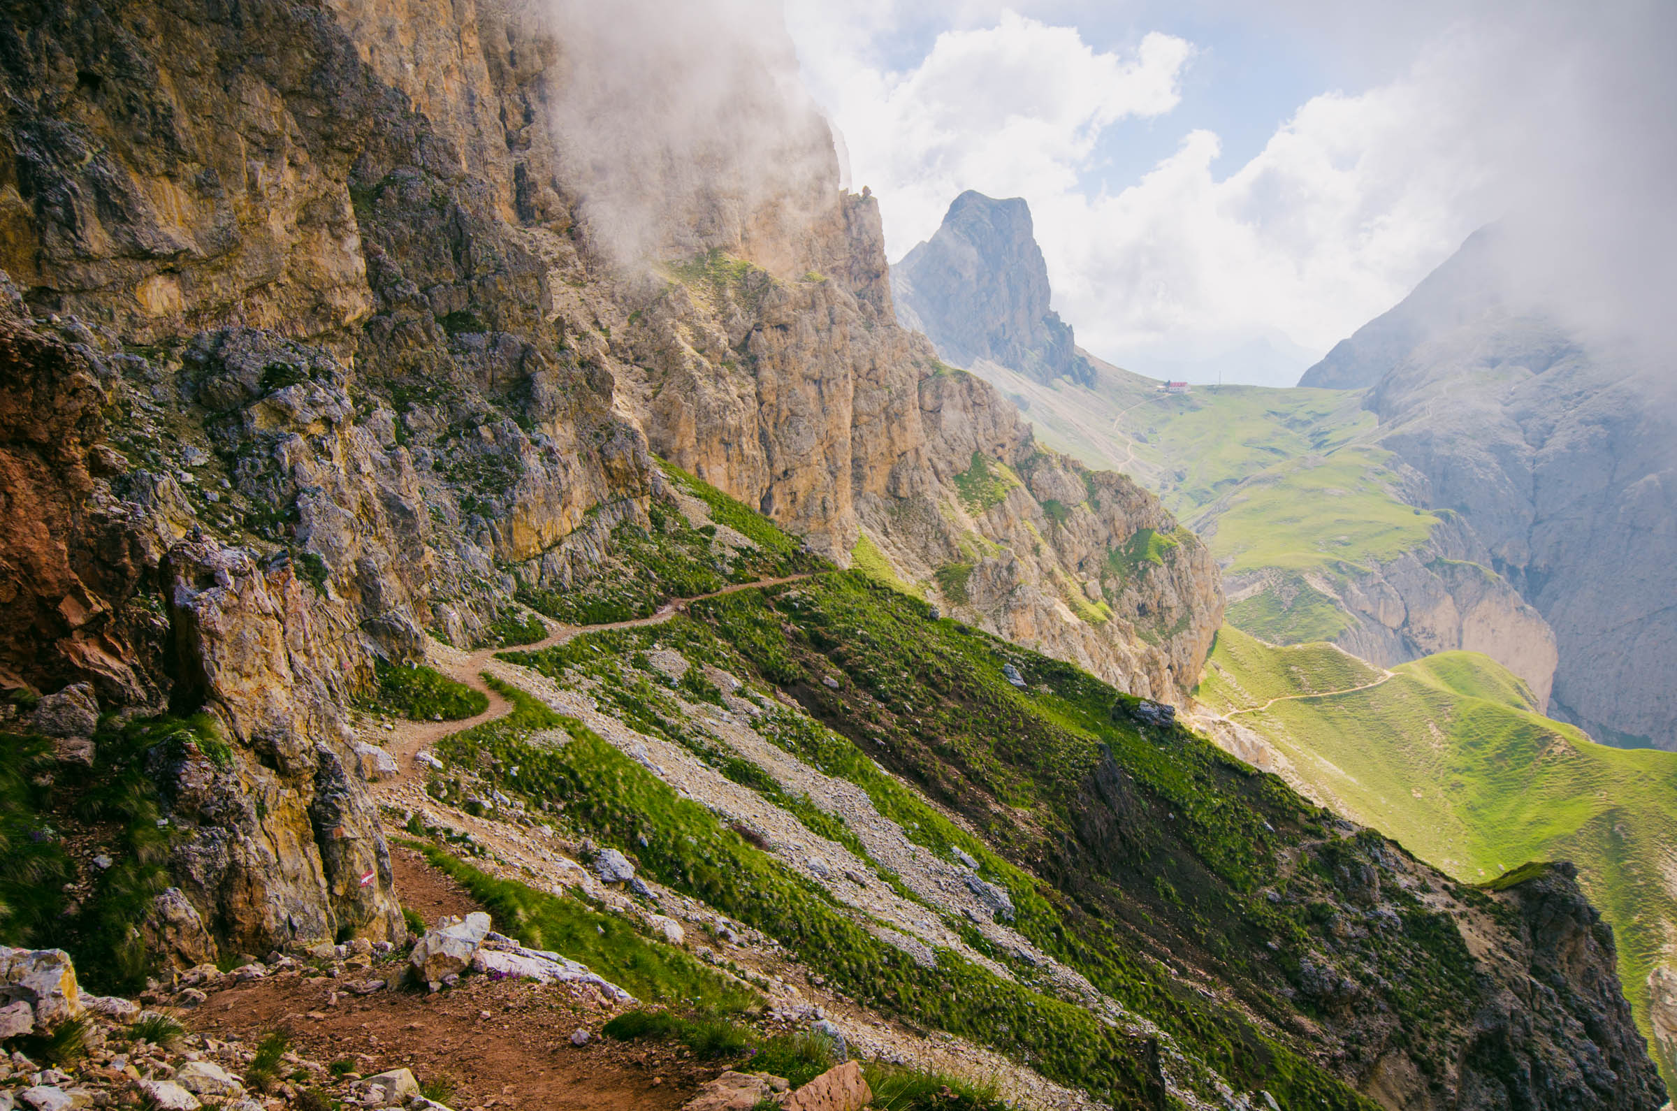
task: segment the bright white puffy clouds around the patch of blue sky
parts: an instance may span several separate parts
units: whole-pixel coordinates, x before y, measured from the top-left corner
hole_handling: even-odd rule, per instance
[[[887,8],[874,10],[875,30]],[[961,190],[1025,196],[1055,307],[1092,351],[1139,369],[1256,337],[1325,351],[1496,215],[1446,79],[1461,60],[1451,52],[1471,44],[1446,40],[1392,84],[1308,101],[1226,176],[1218,136],[1189,131],[1142,180],[1107,193],[1085,185],[1100,133],[1169,119],[1194,54],[1182,39],[1149,34],[1119,55],[1077,29],[1003,12],[944,32],[904,72],[870,65],[867,35],[798,39],[852,180],[880,196],[894,257],[936,230]]]

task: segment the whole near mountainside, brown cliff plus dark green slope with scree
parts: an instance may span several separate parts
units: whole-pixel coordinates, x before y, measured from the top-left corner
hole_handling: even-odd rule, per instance
[[[896,324],[788,44],[659,10],[8,10],[5,936],[111,987],[399,941],[394,821],[657,1002],[803,965],[1036,1106],[1655,1106],[1563,869],[1456,884],[1137,698],[1204,545]],[[481,703],[402,665],[525,604],[634,624],[443,735]],[[649,905],[773,960],[716,988]]]

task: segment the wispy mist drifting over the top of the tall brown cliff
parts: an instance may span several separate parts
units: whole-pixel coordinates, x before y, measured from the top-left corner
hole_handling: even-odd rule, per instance
[[[617,262],[711,247],[770,269],[838,163],[778,0],[542,0],[560,47],[560,180]]]

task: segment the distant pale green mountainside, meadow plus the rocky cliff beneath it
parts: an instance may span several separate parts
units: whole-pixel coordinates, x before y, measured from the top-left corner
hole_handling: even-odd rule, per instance
[[[1382,666],[1482,651],[1546,705],[1555,634],[1459,515],[1424,509],[1424,480],[1382,446],[1363,394],[1196,388],[1100,359],[1093,384],[979,371],[1038,435],[1159,493],[1216,556],[1228,619],[1269,641],[1332,639]]]

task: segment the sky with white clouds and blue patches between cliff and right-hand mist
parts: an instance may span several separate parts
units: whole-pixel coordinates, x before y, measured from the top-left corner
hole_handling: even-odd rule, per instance
[[[788,0],[892,258],[1025,196],[1055,307],[1142,373],[1290,384],[1501,211],[1464,72],[1491,37],[1311,0]]]

